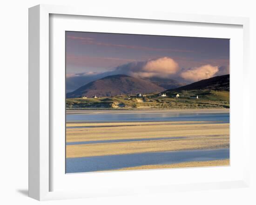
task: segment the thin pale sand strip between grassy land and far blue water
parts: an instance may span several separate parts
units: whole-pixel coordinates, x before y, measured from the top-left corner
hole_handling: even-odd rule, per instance
[[[229,113],[228,108],[205,108],[205,109],[66,109],[67,115],[81,115],[88,113]]]

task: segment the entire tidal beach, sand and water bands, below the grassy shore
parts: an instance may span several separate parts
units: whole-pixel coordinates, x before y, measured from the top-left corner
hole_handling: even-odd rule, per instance
[[[103,171],[104,167],[108,167],[106,170],[138,170],[227,166],[229,118],[222,116],[229,116],[228,112],[229,109],[67,110],[67,115],[75,117],[72,119],[79,119],[66,123],[66,158],[71,163],[68,172],[72,173],[74,166],[77,167],[74,171],[80,172]],[[124,119],[131,117],[130,122],[119,120],[124,116]],[[85,121],[88,117],[95,122]],[[189,154],[192,152],[195,157]],[[218,153],[228,155],[224,154],[223,158]],[[191,160],[187,161],[187,157]],[[150,158],[152,164],[143,162]],[[165,159],[168,163],[164,163]],[[172,159],[180,163],[171,162]],[[154,160],[161,160],[162,164]],[[86,166],[88,163],[91,168]]]

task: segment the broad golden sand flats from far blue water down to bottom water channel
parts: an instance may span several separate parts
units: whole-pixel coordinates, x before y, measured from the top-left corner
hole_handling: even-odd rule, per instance
[[[100,127],[102,124],[104,127]],[[145,141],[67,145],[67,158],[229,147],[229,123],[123,122],[78,125],[81,128],[67,128],[67,142],[137,138]],[[119,126],[113,127],[114,125]],[[83,128],[85,126],[89,128]],[[184,138],[175,139],[180,136]],[[157,140],[165,137],[168,139]],[[148,138],[155,140],[147,140]]]

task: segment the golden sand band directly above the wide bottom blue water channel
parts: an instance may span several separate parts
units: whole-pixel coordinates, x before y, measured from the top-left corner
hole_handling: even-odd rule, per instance
[[[99,143],[67,145],[66,157],[88,157],[144,152],[179,151],[191,149],[229,148],[229,137],[192,137],[188,139],[134,141],[120,143]]]

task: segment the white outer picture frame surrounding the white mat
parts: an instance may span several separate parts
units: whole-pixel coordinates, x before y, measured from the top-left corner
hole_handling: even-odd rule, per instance
[[[51,71],[49,56],[50,50],[50,15],[73,15],[73,16],[90,16],[102,18],[121,18],[133,20],[157,20],[175,21],[188,23],[218,24],[243,26],[243,99],[242,101],[242,121],[243,121],[243,147],[244,156],[249,156],[249,106],[245,106],[245,102],[249,102],[249,89],[245,89],[246,79],[249,77],[249,19],[241,17],[222,17],[209,15],[194,14],[175,14],[161,12],[143,12],[131,13],[125,11],[98,11],[92,8],[78,8],[70,6],[51,6],[38,5],[29,8],[29,197],[37,200],[51,199],[72,199],[87,198],[97,196],[116,196],[137,193],[155,193],[155,192],[172,192],[174,190],[201,190],[201,189],[219,189],[233,187],[249,186],[249,157],[246,157],[243,164],[243,177],[237,177],[234,180],[222,180],[215,182],[200,183],[181,183],[181,184],[152,184],[152,185],[136,185],[135,187],[118,188],[116,185],[109,185],[107,192],[96,192],[94,189],[90,191],[84,190],[64,190],[53,191],[51,189],[52,179],[52,160],[51,150],[54,148],[51,144],[51,106],[52,92],[51,88]],[[232,78],[232,77],[231,77]],[[248,84],[247,84],[248,85]],[[235,93],[235,92],[234,92]],[[232,93],[231,93],[232,95]],[[232,114],[231,114],[232,115]],[[65,156],[63,156],[65,157]],[[139,171],[134,171],[137,175]],[[144,171],[151,172],[151,171]],[[165,173],[168,170],[164,171]],[[99,174],[99,173],[98,173]],[[112,173],[112,175],[117,175]],[[98,175],[99,176],[99,175]],[[109,176],[109,175],[108,175]],[[102,174],[101,178],[105,176]],[[119,179],[121,179],[121,175]],[[79,177],[77,177],[79,178]]]

